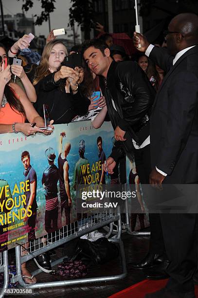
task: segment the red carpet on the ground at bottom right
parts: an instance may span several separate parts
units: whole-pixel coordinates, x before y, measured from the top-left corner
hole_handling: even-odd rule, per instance
[[[167,279],[162,280],[149,280],[145,279],[141,282],[133,284],[131,287],[120,291],[109,298],[144,298],[145,294],[152,293],[162,289],[167,282]],[[196,297],[198,298],[198,286],[195,286]]]

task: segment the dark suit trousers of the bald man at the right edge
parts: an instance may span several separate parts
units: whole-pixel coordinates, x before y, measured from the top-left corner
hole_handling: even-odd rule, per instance
[[[176,292],[194,290],[193,275],[197,266],[197,214],[161,214],[165,249],[170,265],[167,288]]]

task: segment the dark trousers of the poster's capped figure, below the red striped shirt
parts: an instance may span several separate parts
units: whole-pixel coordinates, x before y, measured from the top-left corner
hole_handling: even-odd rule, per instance
[[[58,207],[45,210],[45,230],[48,234],[58,229]]]

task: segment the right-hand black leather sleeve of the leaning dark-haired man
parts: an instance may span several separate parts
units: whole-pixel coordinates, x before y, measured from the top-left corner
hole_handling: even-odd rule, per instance
[[[123,119],[118,124],[126,131],[129,126],[136,125],[148,114],[156,93],[144,71],[133,61],[119,63],[117,77],[129,94],[122,103]]]

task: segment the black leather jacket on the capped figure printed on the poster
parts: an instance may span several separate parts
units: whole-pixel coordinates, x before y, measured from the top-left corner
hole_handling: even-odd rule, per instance
[[[45,184],[46,199],[57,197],[58,168],[55,165],[49,165],[43,172],[42,185]]]

